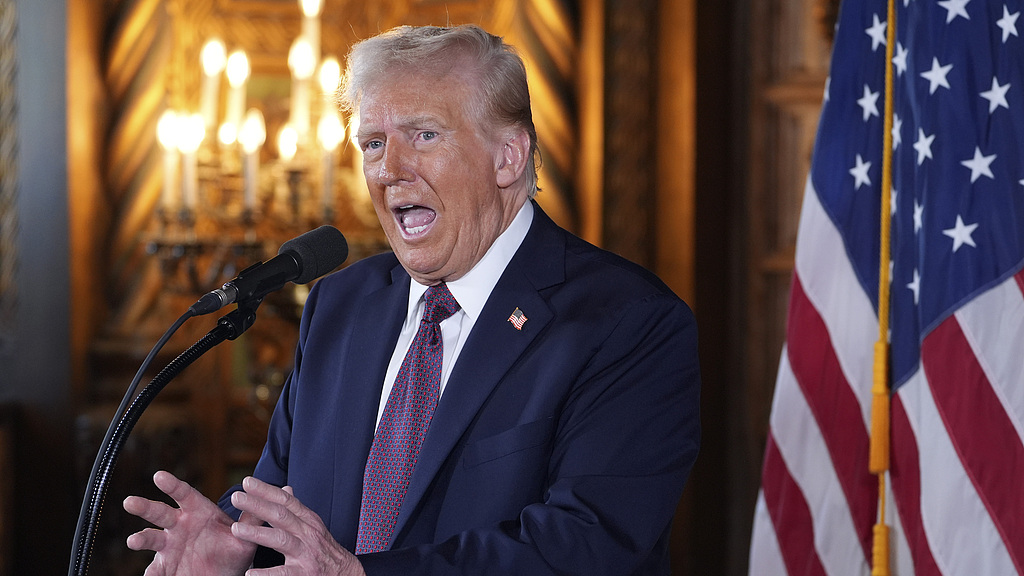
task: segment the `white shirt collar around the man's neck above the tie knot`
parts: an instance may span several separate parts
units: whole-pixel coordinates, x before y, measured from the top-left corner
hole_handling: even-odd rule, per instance
[[[490,291],[498,284],[498,279],[502,277],[505,268],[526,238],[526,233],[529,232],[532,221],[534,203],[526,201],[519,209],[519,213],[512,219],[509,228],[495,239],[494,244],[483,254],[480,261],[476,262],[476,265],[459,280],[447,283],[449,290],[452,291],[456,301],[473,321],[483,311],[483,304],[490,296]],[[416,281],[409,284],[408,318],[413,318],[427,287]]]

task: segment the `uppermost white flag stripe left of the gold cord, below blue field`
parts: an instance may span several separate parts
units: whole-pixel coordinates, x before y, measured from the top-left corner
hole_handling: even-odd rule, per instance
[[[843,374],[860,403],[864,426],[870,429],[869,360],[879,338],[877,315],[847,258],[843,238],[821,207],[811,178],[807,178],[797,233],[796,269],[807,298],[825,323]]]

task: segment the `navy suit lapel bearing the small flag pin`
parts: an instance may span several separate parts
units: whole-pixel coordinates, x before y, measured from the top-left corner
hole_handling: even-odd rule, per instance
[[[563,280],[565,246],[559,229],[535,205],[534,223],[509,262],[466,340],[420,448],[392,543],[492,390],[552,319],[540,290]],[[517,330],[509,316],[527,317]]]

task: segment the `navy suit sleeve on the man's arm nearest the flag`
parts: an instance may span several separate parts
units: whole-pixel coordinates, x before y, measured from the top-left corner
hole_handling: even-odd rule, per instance
[[[696,325],[671,294],[620,312],[557,415],[544,500],[515,521],[365,554],[368,575],[668,573],[699,445]]]

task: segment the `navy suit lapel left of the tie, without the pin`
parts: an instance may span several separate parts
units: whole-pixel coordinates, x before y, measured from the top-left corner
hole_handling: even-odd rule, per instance
[[[351,337],[337,384],[344,386],[345,393],[337,408],[335,501],[329,524],[335,538],[349,549],[355,545],[362,472],[374,439],[384,375],[408,311],[409,282],[409,276],[396,266],[391,284],[364,297],[349,321]]]

